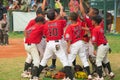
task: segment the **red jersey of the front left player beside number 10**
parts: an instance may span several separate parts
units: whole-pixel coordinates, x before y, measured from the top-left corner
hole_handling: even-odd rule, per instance
[[[27,37],[25,40],[25,43],[35,43],[38,44],[43,36],[43,25],[35,24],[32,27],[30,27],[26,33]]]

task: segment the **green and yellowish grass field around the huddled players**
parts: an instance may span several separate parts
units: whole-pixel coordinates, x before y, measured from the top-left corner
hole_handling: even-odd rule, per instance
[[[10,38],[18,38],[18,37],[23,38],[23,34],[10,33]],[[112,49],[112,53],[109,54],[109,59],[111,61],[113,72],[116,75],[114,80],[120,80],[120,59],[119,59],[120,35],[107,34],[107,39]],[[25,61],[25,57],[16,57],[16,58],[10,58],[10,59],[1,58],[0,59],[0,80],[28,80],[28,79],[22,79],[20,77],[20,74],[23,71],[24,61]],[[50,65],[50,63],[51,61],[49,61],[48,65]],[[77,63],[81,64],[78,58],[77,58]],[[57,69],[61,67],[62,65],[57,59]]]

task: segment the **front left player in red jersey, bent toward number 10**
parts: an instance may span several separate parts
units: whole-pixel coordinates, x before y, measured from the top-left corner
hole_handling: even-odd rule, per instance
[[[36,17],[35,21],[36,24],[25,31],[25,35],[26,35],[25,50],[31,55],[33,60],[32,77],[30,80],[38,80],[37,75],[38,75],[40,57],[36,44],[40,43],[43,36],[44,17],[42,16]]]

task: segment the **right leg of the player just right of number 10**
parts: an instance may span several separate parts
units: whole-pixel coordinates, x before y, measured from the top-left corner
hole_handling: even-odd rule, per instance
[[[84,42],[83,41],[79,41],[79,57],[82,61],[82,64],[84,66],[84,69],[85,71],[87,72],[88,74],[88,80],[92,79],[92,76],[91,76],[91,73],[90,73],[90,67],[89,67],[89,63],[88,63],[88,59],[87,59],[87,55],[86,55],[86,52],[85,52],[85,46],[84,46]]]

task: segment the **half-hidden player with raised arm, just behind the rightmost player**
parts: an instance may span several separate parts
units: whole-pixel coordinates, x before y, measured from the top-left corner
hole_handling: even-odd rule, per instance
[[[91,42],[91,34],[92,34],[92,30],[94,29],[94,26],[92,25],[92,20],[91,20],[91,18],[92,18],[93,16],[98,15],[98,14],[99,14],[99,10],[96,9],[96,8],[90,7],[90,8],[89,8],[89,12],[86,13],[86,12],[85,12],[85,9],[84,9],[84,7],[83,7],[83,4],[82,4],[83,1],[84,1],[84,0],[80,0],[80,11],[81,11],[81,13],[82,13],[83,19],[84,19],[85,24],[86,24],[86,26],[87,26],[87,28],[84,29],[84,30],[86,30],[86,31],[88,32],[88,35],[86,35],[86,38],[88,37],[88,41],[86,41],[85,47],[86,47],[86,49],[87,49],[87,51],[88,51],[88,52],[87,52],[87,53],[88,53],[87,56],[88,56],[88,58],[89,58],[89,61],[90,61],[91,64],[92,64],[92,70],[93,70],[93,72],[94,72],[96,65],[95,65],[95,61],[94,61],[94,59],[95,59],[94,46],[93,46],[93,44],[92,44],[92,42]]]

